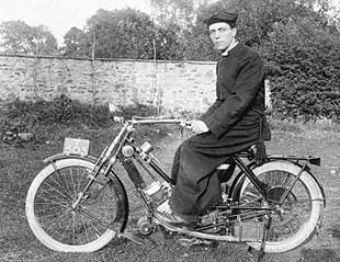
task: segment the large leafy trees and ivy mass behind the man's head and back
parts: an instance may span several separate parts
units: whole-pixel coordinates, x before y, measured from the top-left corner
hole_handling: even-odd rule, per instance
[[[193,48],[185,54],[191,59],[215,59],[204,20],[220,9],[239,13],[238,39],[264,59],[273,114],[339,121],[340,24],[336,18],[330,20],[326,0],[229,0],[201,5],[188,34],[197,39],[191,41]]]

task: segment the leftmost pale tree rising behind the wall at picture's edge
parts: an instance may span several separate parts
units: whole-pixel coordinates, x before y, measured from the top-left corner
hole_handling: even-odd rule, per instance
[[[57,41],[44,25],[30,26],[23,21],[0,24],[2,43],[7,54],[55,55]]]

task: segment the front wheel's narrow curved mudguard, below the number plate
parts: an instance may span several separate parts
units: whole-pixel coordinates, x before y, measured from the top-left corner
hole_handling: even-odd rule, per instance
[[[75,159],[82,159],[82,160],[87,160],[87,161],[90,161],[92,163],[95,163],[97,162],[97,158],[92,157],[92,156],[80,156],[80,155],[65,155],[65,153],[57,153],[57,155],[54,155],[54,156],[50,156],[46,159],[44,159],[44,163],[53,163],[53,162],[56,162],[58,160],[61,160],[61,159],[67,159],[67,158],[75,158]],[[122,187],[122,202],[123,202],[123,208],[125,209],[124,210],[124,214],[123,214],[123,221],[122,221],[122,227],[121,227],[121,230],[120,232],[124,232],[125,228],[126,228],[126,225],[127,225],[127,220],[128,220],[128,197],[127,197],[127,193],[126,193],[126,190],[125,190],[125,186],[124,184],[122,183],[122,181],[120,180],[118,175],[113,171],[111,170],[110,174],[117,181],[118,185]]]

